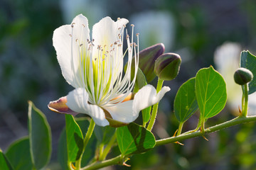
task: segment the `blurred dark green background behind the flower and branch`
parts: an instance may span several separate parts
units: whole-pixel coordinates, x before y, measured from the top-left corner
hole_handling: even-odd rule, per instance
[[[156,138],[172,136],[178,122],[172,113],[178,87],[198,69],[215,65],[215,49],[239,42],[256,54],[254,0],[1,0],[0,1],[0,147],[6,149],[27,134],[28,100],[46,114],[53,132],[50,169],[60,169],[57,145],[65,125],[63,115],[48,110],[49,101],[73,89],[63,78],[52,45],[53,30],[70,24],[79,13],[89,28],[105,16],[127,18],[140,35],[140,49],[163,42],[166,52],[183,60],[180,74],[165,82],[171,92],[160,103]],[[156,84],[156,80],[153,81]],[[233,118],[226,108],[207,125]],[[194,115],[184,130],[196,127]],[[132,157],[132,168],[112,169],[256,169],[256,125],[239,125],[203,138],[166,145]]]

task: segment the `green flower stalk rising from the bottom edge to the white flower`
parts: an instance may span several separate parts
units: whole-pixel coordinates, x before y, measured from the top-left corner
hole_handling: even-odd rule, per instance
[[[85,135],[85,138],[83,140],[82,153],[81,153],[80,158],[78,159],[78,161],[75,162],[75,169],[76,170],[81,169],[82,154],[85,152],[85,147],[88,144],[88,142],[90,140],[90,137],[92,136],[92,132],[93,132],[94,128],[95,128],[95,121],[93,119],[91,119],[89,128],[88,128],[87,133]]]

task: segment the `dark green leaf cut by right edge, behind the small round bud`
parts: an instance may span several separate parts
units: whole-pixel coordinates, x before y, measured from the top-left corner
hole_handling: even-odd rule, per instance
[[[240,67],[249,69],[253,74],[253,79],[249,83],[248,94],[252,94],[256,91],[256,57],[249,51],[242,51],[240,55]]]

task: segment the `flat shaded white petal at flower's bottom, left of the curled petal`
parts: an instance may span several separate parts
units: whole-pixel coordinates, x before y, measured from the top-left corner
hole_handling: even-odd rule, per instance
[[[136,119],[132,114],[132,103],[133,100],[125,101],[114,106],[103,106],[102,108],[107,110],[114,120],[122,123],[131,123]]]

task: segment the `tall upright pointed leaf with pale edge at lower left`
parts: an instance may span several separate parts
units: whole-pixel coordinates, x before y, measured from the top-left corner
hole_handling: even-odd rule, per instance
[[[28,133],[31,159],[36,169],[41,169],[50,160],[51,134],[46,116],[28,101]]]

